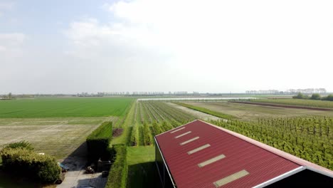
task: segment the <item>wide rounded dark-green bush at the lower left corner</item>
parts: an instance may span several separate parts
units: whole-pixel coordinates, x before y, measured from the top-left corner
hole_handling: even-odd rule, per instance
[[[61,169],[56,158],[38,155],[26,148],[7,147],[1,150],[2,166],[5,172],[36,179],[40,182],[55,182],[60,179]]]

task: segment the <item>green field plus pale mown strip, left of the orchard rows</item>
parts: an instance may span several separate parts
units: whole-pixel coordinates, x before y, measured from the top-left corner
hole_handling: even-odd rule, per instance
[[[38,152],[70,155],[104,121],[117,122],[132,98],[0,100],[0,147],[26,140]]]

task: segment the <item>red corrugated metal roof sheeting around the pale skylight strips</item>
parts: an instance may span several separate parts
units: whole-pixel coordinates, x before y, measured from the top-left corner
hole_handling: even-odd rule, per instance
[[[181,127],[185,128],[174,132]],[[221,187],[254,187],[302,166],[200,120],[181,127],[156,137],[164,160],[179,188],[213,188],[216,187],[214,182],[243,170],[249,174],[231,182],[227,181],[228,183]],[[179,135],[181,137],[178,137]],[[199,139],[180,145],[194,137]],[[188,154],[189,151],[207,144],[210,146]],[[219,155],[225,157],[199,167],[198,164]]]

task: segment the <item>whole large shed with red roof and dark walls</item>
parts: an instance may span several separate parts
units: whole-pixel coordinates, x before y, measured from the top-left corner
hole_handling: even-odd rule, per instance
[[[333,171],[201,120],[155,137],[162,187],[333,187]]]

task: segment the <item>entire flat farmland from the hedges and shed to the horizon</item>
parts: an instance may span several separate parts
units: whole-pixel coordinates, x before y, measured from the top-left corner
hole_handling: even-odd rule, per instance
[[[27,140],[38,152],[55,155],[58,159],[70,155],[102,122],[113,122],[114,128],[122,129],[122,134],[112,137],[111,145],[122,144],[127,147],[127,187],[144,187],[147,184],[159,187],[158,181],[147,182],[147,179],[158,178],[154,166],[154,136],[198,118],[324,167],[333,168],[332,111],[277,108],[226,101],[186,101],[177,105],[132,98],[13,101],[23,101],[17,106],[17,109],[21,110],[15,110],[11,105],[7,105],[9,110],[4,108],[5,105],[0,107],[4,112],[0,118],[0,143],[4,145]],[[37,101],[38,104],[30,101]],[[47,111],[46,107],[55,104],[55,101],[62,105],[50,108],[53,114],[44,112]],[[66,101],[71,104],[65,104]],[[0,104],[4,104],[2,102],[0,101]],[[35,115],[30,110],[40,114]],[[73,117],[68,117],[69,115]],[[228,121],[214,115],[228,117]]]

